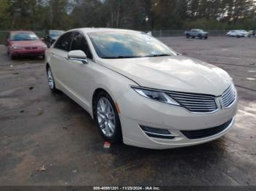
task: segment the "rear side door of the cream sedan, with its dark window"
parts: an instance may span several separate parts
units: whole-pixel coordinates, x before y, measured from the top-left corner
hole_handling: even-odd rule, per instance
[[[56,83],[59,83],[65,89],[70,90],[69,61],[67,53],[70,50],[73,32],[67,32],[59,37],[58,41],[52,47],[50,52],[50,67],[53,71],[53,77]]]

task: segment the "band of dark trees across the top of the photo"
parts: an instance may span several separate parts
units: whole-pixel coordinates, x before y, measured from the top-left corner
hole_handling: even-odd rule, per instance
[[[0,30],[255,30],[255,10],[255,0],[1,0]]]

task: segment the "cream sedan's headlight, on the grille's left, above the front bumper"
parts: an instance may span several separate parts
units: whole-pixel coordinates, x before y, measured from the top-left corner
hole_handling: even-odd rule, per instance
[[[133,87],[132,89],[135,90],[135,92],[139,93],[140,95],[143,95],[146,98],[150,98],[154,101],[159,101],[165,104],[172,104],[179,106],[179,104],[173,100],[173,98],[170,98],[166,93],[159,91],[159,90],[148,90],[143,89],[140,87]]]

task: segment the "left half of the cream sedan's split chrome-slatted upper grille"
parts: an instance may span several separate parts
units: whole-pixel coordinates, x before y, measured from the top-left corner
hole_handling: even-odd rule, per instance
[[[177,92],[168,92],[167,95],[190,112],[208,113],[218,109],[214,95]]]

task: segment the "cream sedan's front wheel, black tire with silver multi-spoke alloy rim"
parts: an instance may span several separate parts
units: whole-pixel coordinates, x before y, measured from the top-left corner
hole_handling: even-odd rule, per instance
[[[97,120],[99,132],[106,141],[115,143],[121,140],[121,122],[116,105],[104,91],[94,101],[94,119]]]

